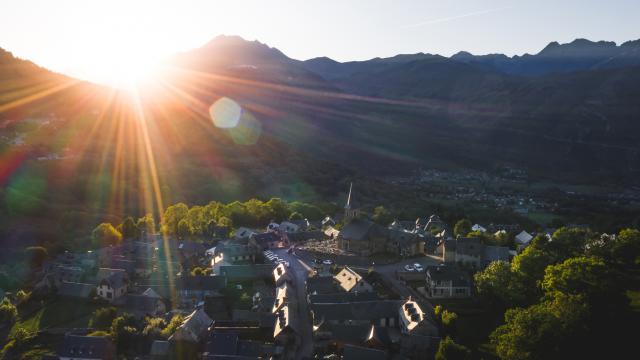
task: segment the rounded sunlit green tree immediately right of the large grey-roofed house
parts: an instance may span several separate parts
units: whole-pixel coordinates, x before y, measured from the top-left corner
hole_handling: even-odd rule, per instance
[[[486,269],[477,272],[474,280],[478,294],[491,302],[498,301],[509,307],[524,301],[521,284],[507,262],[492,262]]]

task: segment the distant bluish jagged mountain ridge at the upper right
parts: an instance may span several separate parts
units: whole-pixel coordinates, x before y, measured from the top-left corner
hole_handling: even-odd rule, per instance
[[[640,65],[640,41],[628,41],[619,46],[610,41],[594,42],[586,39],[576,39],[568,44],[554,41],[535,55],[475,56],[468,52],[459,52],[451,59],[505,74],[540,76]]]

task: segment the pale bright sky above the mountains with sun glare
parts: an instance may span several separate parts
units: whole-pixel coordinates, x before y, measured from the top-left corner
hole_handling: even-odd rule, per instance
[[[108,82],[220,34],[296,59],[536,53],[575,38],[640,38],[637,0],[2,0],[0,47]],[[111,69],[111,70],[106,70]]]

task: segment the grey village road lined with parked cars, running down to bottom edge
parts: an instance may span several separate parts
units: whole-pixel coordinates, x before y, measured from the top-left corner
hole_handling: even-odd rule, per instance
[[[296,350],[294,359],[311,358],[313,355],[313,329],[309,315],[309,304],[307,302],[306,283],[309,276],[309,266],[299,260],[296,256],[288,254],[285,249],[274,250],[280,258],[288,261],[289,270],[293,274],[293,283],[296,292],[296,304],[298,313],[298,328],[300,331],[300,345]]]

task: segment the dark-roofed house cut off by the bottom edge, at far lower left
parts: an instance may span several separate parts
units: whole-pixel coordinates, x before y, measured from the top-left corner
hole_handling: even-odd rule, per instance
[[[115,360],[116,347],[104,336],[66,335],[58,357],[60,360]]]

